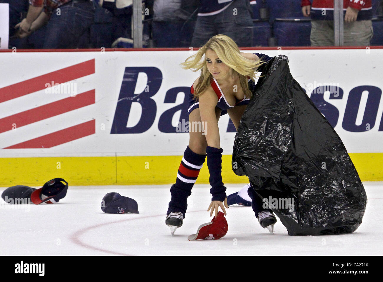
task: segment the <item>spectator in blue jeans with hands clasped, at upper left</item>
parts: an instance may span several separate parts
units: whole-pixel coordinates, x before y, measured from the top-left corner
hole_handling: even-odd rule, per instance
[[[88,0],[29,0],[28,14],[16,28],[22,38],[48,23],[44,49],[77,48],[93,23],[94,13],[93,2]]]

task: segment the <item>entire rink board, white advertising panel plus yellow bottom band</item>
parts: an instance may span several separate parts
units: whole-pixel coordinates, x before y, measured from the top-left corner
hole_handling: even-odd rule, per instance
[[[188,144],[187,95],[198,77],[179,64],[193,51],[13,51],[0,52],[0,186],[53,177],[72,185],[174,182]],[[383,180],[383,49],[243,51],[287,55],[361,179]],[[231,169],[228,115],[219,131],[223,181],[246,183]],[[206,167],[198,182],[208,183]]]

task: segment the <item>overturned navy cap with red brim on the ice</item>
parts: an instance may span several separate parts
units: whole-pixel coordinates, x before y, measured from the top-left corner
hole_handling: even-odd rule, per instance
[[[65,184],[63,183],[65,182]],[[40,189],[32,192],[31,201],[34,204],[53,204],[67,195],[68,182],[62,178],[54,178],[49,180]]]

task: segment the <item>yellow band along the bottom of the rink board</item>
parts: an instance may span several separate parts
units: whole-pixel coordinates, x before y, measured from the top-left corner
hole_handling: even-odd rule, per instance
[[[362,181],[383,179],[383,153],[350,153],[350,157]],[[42,186],[56,177],[64,178],[70,185],[172,184],[181,159],[182,156],[0,158],[0,186]],[[222,157],[222,178],[224,183],[249,182],[246,176],[234,174],[231,155]],[[209,183],[206,165],[196,183]]]

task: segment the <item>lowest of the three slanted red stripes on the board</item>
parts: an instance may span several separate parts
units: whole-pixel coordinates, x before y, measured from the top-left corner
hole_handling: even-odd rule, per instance
[[[51,148],[96,133],[96,120],[89,120],[47,135],[21,142],[3,149]]]

